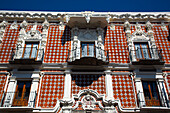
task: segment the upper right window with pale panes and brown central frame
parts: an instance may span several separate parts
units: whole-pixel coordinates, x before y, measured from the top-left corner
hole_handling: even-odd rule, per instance
[[[149,59],[150,51],[147,43],[135,43],[136,58],[139,59]]]

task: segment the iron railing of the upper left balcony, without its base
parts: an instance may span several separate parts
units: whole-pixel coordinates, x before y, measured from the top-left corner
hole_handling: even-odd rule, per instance
[[[38,49],[37,47],[17,47],[12,49],[10,60],[15,59],[35,59],[36,61],[42,61],[44,57],[44,49]]]

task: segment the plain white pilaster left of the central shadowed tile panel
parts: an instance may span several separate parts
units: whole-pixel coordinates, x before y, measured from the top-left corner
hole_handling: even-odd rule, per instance
[[[65,71],[65,82],[64,82],[64,99],[71,100],[71,74],[70,70]]]

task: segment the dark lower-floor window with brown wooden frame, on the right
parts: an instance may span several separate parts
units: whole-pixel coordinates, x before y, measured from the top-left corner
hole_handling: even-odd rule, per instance
[[[143,81],[146,106],[161,106],[158,88],[155,81]]]

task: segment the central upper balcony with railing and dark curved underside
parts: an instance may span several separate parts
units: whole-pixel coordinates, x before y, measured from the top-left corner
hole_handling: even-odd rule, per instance
[[[109,64],[108,51],[100,47],[92,49],[76,48],[68,51],[67,62],[69,65],[107,65]]]

